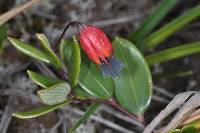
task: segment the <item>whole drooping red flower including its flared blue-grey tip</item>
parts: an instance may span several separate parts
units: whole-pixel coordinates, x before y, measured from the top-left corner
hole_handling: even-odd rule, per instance
[[[112,44],[108,37],[95,26],[79,25],[79,41],[84,52],[94,63],[100,65],[104,76],[119,76],[124,65],[113,56]]]

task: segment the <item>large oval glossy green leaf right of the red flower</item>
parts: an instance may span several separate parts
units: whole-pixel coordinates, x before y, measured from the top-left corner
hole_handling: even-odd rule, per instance
[[[140,51],[128,40],[116,38],[113,42],[115,56],[125,67],[114,78],[115,96],[122,107],[142,114],[150,103],[152,79],[148,65]]]

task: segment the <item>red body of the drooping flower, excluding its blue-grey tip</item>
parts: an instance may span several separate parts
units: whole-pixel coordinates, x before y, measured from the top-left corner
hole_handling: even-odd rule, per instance
[[[97,27],[85,26],[80,28],[80,44],[88,57],[96,64],[100,65],[101,60],[112,55],[112,45],[107,36]]]

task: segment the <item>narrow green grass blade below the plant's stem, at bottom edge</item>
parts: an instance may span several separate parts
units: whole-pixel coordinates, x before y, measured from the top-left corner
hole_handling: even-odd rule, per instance
[[[100,106],[99,103],[93,103],[90,105],[90,107],[87,109],[87,112],[78,120],[78,122],[69,130],[69,133],[75,133],[75,130],[84,122],[86,122],[89,117],[98,109]]]

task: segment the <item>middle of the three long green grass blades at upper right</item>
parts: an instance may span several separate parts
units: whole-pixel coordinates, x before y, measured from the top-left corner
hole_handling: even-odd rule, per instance
[[[160,44],[162,41],[167,39],[171,34],[184,27],[189,22],[200,16],[200,5],[190,9],[183,15],[172,20],[162,28],[153,32],[150,36],[145,39],[145,43],[148,47],[152,48]]]

